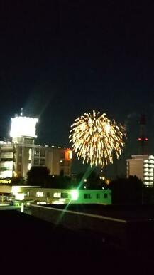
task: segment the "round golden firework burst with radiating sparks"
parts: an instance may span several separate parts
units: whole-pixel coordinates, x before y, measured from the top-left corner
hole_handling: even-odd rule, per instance
[[[115,121],[106,118],[106,114],[84,113],[71,125],[70,142],[83,163],[90,163],[91,167],[113,162],[113,152],[119,158],[123,151],[123,136],[125,128],[116,125]]]

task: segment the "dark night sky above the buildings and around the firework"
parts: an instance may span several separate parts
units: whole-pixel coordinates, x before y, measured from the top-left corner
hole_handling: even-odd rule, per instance
[[[153,153],[152,1],[50,2],[1,1],[1,139],[23,107],[40,118],[37,142],[67,147],[75,118],[99,110],[126,123],[124,159],[138,152],[145,113]]]

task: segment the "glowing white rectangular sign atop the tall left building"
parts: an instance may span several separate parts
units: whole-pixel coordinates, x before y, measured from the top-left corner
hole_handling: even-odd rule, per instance
[[[11,118],[11,137],[37,137],[35,135],[35,127],[38,118],[28,118],[18,116]]]

